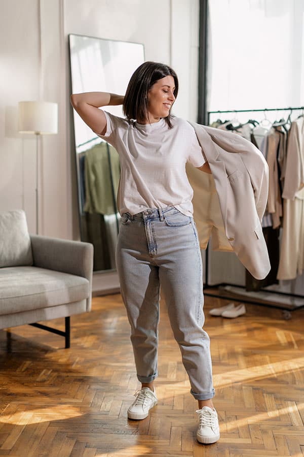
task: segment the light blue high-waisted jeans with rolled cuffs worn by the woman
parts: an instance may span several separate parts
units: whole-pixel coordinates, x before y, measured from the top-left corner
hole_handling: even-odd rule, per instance
[[[171,328],[197,400],[214,396],[210,339],[203,330],[202,257],[195,222],[173,206],[124,213],[117,251],[140,382],[157,375],[160,286]]]

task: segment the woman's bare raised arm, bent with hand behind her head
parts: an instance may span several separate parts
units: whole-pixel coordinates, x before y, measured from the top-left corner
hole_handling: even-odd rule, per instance
[[[106,117],[99,107],[122,105],[124,96],[109,92],[73,93],[71,104],[85,123],[99,135],[106,132]]]

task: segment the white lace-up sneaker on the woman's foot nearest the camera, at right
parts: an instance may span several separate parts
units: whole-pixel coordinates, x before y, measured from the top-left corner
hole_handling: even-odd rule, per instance
[[[215,409],[204,406],[196,411],[199,415],[200,425],[197,431],[197,440],[200,443],[211,444],[219,440],[219,425]]]

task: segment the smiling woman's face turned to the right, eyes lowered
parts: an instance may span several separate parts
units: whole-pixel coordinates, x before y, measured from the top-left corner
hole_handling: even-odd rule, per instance
[[[175,101],[173,76],[159,79],[148,91],[148,122],[158,122],[160,118],[167,117]]]

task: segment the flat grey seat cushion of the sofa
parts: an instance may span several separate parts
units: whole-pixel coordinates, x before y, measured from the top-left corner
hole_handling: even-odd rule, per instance
[[[0,277],[0,315],[77,302],[90,293],[86,278],[44,268],[2,268]]]

